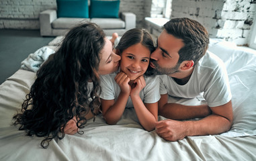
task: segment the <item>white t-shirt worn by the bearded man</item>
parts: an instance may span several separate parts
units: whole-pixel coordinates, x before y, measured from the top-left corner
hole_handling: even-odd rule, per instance
[[[224,63],[211,52],[200,59],[185,85],[178,85],[171,76],[160,76],[160,93],[173,97],[195,98],[203,95],[209,107],[224,105],[231,100],[228,74]]]

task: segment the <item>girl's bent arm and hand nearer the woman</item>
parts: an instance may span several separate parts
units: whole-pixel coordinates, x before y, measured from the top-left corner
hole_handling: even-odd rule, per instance
[[[115,77],[116,83],[120,86],[121,92],[118,96],[118,99],[115,100],[104,100],[101,99],[101,107],[102,107],[102,114],[105,118],[105,121],[108,124],[116,124],[122,114],[124,113],[124,109],[126,107],[126,103],[128,101],[130,95],[130,85],[128,82],[130,78],[124,72],[120,72]]]

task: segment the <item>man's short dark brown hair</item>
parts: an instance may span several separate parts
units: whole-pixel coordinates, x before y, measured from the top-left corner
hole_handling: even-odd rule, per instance
[[[168,34],[183,40],[185,46],[179,50],[179,61],[194,60],[194,65],[204,56],[209,44],[209,35],[202,24],[194,19],[175,18],[163,26]]]

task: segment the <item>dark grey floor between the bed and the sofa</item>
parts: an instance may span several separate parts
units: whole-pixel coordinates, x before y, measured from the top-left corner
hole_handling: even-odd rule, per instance
[[[42,37],[39,30],[0,30],[0,85],[14,74],[21,62],[54,37]]]

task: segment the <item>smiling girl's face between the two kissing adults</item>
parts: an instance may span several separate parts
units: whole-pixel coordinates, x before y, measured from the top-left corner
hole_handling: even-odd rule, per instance
[[[120,68],[130,80],[135,80],[146,72],[150,57],[151,51],[148,48],[140,43],[134,44],[122,52]]]

